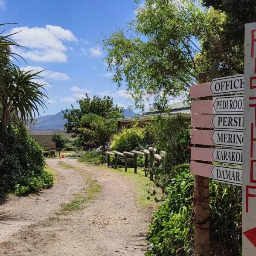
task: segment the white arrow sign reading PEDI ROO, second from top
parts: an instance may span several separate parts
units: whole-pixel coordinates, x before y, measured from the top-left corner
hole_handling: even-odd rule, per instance
[[[215,113],[243,113],[244,96],[214,97],[212,112]]]

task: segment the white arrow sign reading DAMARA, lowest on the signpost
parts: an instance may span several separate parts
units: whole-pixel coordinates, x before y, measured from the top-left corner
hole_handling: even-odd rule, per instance
[[[242,186],[242,169],[229,166],[213,166],[212,178],[222,183]]]

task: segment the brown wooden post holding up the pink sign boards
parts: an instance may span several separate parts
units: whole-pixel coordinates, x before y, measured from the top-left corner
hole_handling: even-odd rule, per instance
[[[212,65],[212,79],[218,77],[218,63]],[[207,73],[198,74],[198,84],[207,81]],[[208,163],[208,162],[207,162]],[[212,164],[212,162],[210,162]],[[209,178],[195,175],[195,255],[210,255]]]

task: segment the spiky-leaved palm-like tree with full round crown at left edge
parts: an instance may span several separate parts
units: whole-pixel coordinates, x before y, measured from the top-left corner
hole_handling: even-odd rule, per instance
[[[42,70],[44,71],[44,70]],[[0,91],[0,102],[2,103],[2,116],[0,129],[3,135],[7,132],[9,116],[14,113],[20,120],[26,122],[33,120],[39,115],[39,108],[47,108],[45,99],[48,98],[44,90],[44,84],[40,83],[42,71],[30,70],[24,72],[12,64],[7,68],[6,74],[8,84],[6,90]]]

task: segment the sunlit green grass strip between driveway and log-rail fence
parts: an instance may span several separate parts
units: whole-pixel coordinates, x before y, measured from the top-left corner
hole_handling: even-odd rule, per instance
[[[106,167],[104,167],[106,169]],[[135,184],[135,195],[137,197],[137,204],[140,207],[155,206],[157,202],[154,198],[159,200],[162,197],[161,189],[154,186],[154,182],[145,177],[145,173],[142,168],[137,168],[137,174],[134,174],[134,168],[128,168],[125,172],[125,168],[119,169],[107,169],[111,172],[118,172],[122,176],[128,177]],[[156,194],[154,195],[154,190]]]

